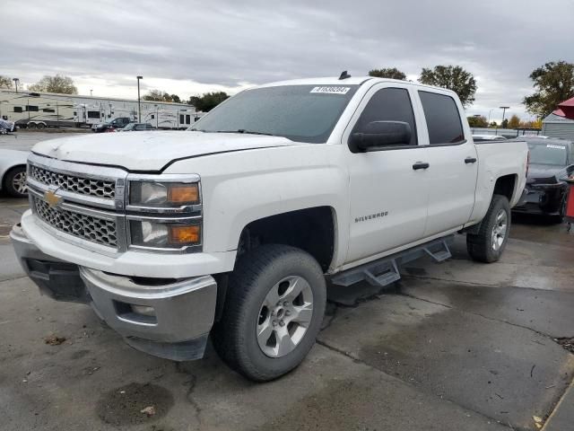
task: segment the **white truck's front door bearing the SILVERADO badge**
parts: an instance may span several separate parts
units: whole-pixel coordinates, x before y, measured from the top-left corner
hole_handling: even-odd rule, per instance
[[[350,238],[347,262],[390,251],[422,238],[427,217],[427,172],[415,168],[428,150],[419,145],[421,116],[414,115],[409,84],[374,85],[344,133],[370,121],[404,121],[412,130],[407,145],[347,155],[350,177]],[[419,121],[417,123],[417,121]]]

